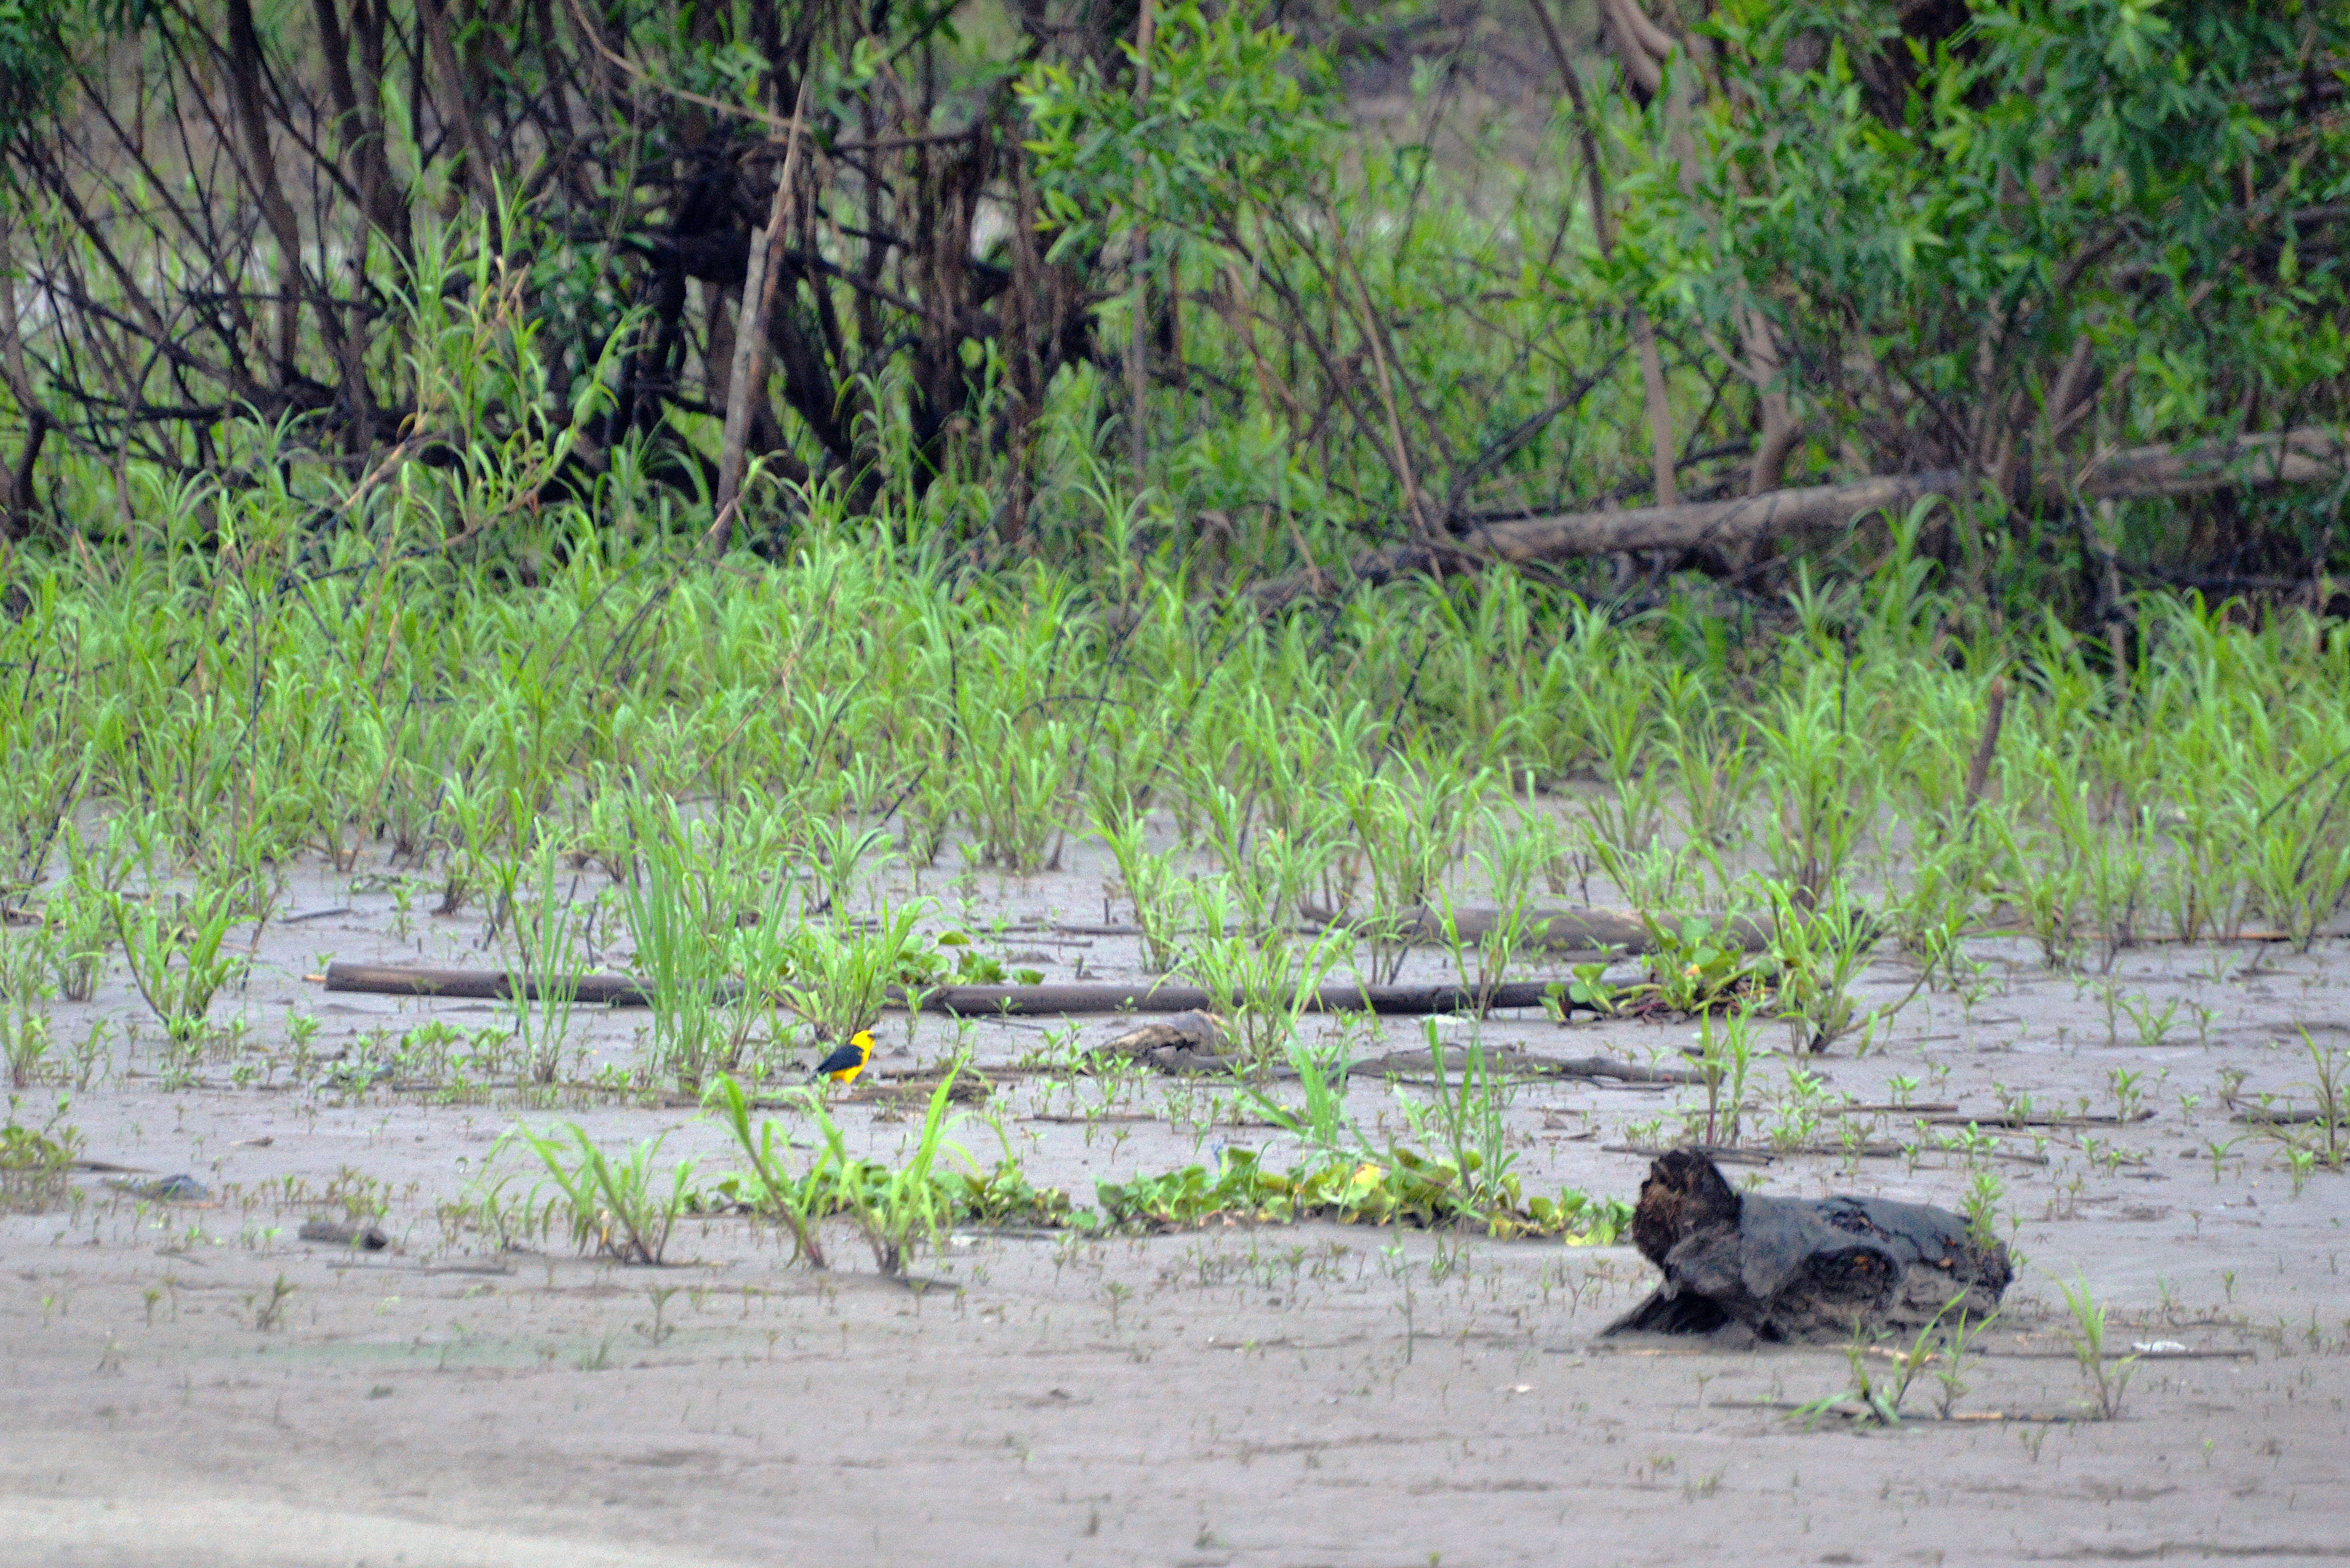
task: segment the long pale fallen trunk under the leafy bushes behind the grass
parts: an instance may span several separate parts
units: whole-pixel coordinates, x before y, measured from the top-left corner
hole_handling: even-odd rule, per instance
[[[2272,435],[2242,435],[2200,447],[2134,447],[2094,458],[2075,475],[2049,475],[2033,496],[2049,505],[2084,501],[2143,501],[2155,496],[2202,496],[2216,489],[2272,489],[2324,484],[2350,475],[2350,440],[2322,425]],[[1878,475],[1849,484],[1774,489],[1737,501],[1650,505],[1631,512],[1565,512],[1523,522],[1478,524],[1452,543],[1412,543],[1368,550],[1347,571],[1292,571],[1260,583],[1250,599],[1281,609],[1307,597],[1328,597],[1354,583],[1394,583],[1405,576],[1445,576],[1490,564],[1558,562],[1619,550],[1730,550],[1748,541],[1842,529],[1854,517],[1896,512],[1927,496],[1958,496],[1981,477],[1958,468],[1918,475]]]

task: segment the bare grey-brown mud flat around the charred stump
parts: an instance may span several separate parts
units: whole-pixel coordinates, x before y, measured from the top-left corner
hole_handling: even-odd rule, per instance
[[[898,875],[902,884],[902,872]],[[1013,926],[982,945],[1048,978],[1135,978],[1100,924],[1100,867],[961,891],[926,877],[945,924]],[[400,905],[407,905],[402,914]],[[968,903],[968,907],[961,907]],[[2350,1178],[2296,1192],[2272,1133],[2232,1119],[2261,1093],[2308,1105],[2310,1058],[2350,1044],[2350,945],[2150,945],[2103,978],[2049,973],[2028,943],[1981,940],[1974,994],[1920,994],[1854,1060],[1772,1056],[1725,1166],[1760,1192],[1864,1192],[1960,1206],[1990,1173],[2021,1253],[2009,1309],[1939,1415],[1920,1373],[1896,1429],[1798,1406],[1852,1387],[1842,1347],[1727,1352],[1600,1340],[1654,1272],[1626,1244],[1490,1241],[1344,1225],[1159,1237],[956,1232],[931,1284],[790,1265],[743,1218],[689,1220],[670,1267],[580,1258],[564,1239],[496,1251],[454,1206],[503,1173],[517,1117],[736,1168],[691,1107],[336,1077],[338,1053],[432,1020],[498,1027],[491,1004],[329,997],[324,957],[496,964],[475,919],[430,919],[423,884],[296,877],[258,936],[247,1039],[195,1086],[120,978],[56,1009],[61,1046],[108,1027],[108,1074],[73,1093],[92,1161],[45,1213],[0,1215],[0,1559],[9,1563],[1680,1563],[2138,1561],[2350,1556]],[[1445,978],[1417,954],[1405,978]],[[1899,997],[1887,957],[1856,994]],[[308,1060],[296,1039],[308,1034]],[[637,1060],[642,1011],[583,1013],[585,1072]],[[982,1067],[1067,1023],[964,1030]],[[1126,1025],[1076,1020],[1086,1044]],[[1354,1027],[1356,1056],[1422,1039]],[[1448,1023],[1448,1039],[1466,1039]],[[1488,1044],[1671,1063],[1685,1023],[1485,1020]],[[909,1072],[956,1025],[891,1018],[877,1074]],[[1774,1046],[1779,1044],[1772,1032]],[[242,1067],[242,1072],[237,1072]],[[1826,1103],[1958,1103],[1995,1117],[2120,1126],[1981,1128],[1995,1147],[1847,1159],[1805,1128],[1791,1072]],[[2115,1086],[2115,1070],[2138,1074]],[[242,1077],[244,1081],[235,1081]],[[1904,1088],[1896,1079],[1913,1079]],[[1394,1088],[1349,1110],[1398,1126]],[[1405,1088],[1405,1093],[1410,1093]],[[2124,1105],[2124,1098],[2136,1100]],[[33,1091],[19,1114],[42,1112]],[[1530,1192],[1631,1199],[1690,1088],[1525,1084],[1511,1105]],[[1067,1074],[1001,1079],[996,1110],[1036,1182],[1090,1201],[1097,1178],[1215,1150],[1292,1150],[1229,1086],[1149,1081],[1104,1105]],[[914,1131],[841,1110],[891,1157]],[[1868,1143],[1918,1140],[1868,1117]],[[1661,1126],[1659,1126],[1661,1124]],[[1953,1128],[1934,1128],[1948,1135]],[[968,1124],[964,1143],[999,1154]],[[1614,1145],[1614,1147],[1612,1147]],[[202,1201],[108,1185],[193,1175]],[[374,1211],[390,1246],[303,1244],[317,1215]],[[2103,1302],[2108,1354],[2141,1359],[2092,1420],[2061,1284]],[[2143,1349],[2141,1349],[2143,1347]],[[2120,1366],[2110,1361],[2108,1366]],[[1889,1352],[1868,1371],[1892,1371]],[[1856,1408],[1856,1406],[1847,1406]]]

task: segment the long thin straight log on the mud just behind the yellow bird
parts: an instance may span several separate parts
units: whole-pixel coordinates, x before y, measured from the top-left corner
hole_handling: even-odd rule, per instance
[[[503,1001],[517,994],[548,997],[569,992],[590,1006],[653,1006],[653,992],[630,976],[569,976],[564,980],[515,978],[503,969],[409,969],[397,964],[329,964],[327,990],[367,992],[376,997],[456,997]],[[1542,1006],[1560,980],[1506,980],[1483,994],[1495,1009]],[[714,987],[738,997],[740,983]],[[1462,1013],[1478,1006],[1478,987],[1462,985],[1323,985],[1307,997],[1309,1013],[1386,1013],[1426,1016]],[[919,1004],[924,1013],[959,1018],[1039,1018],[1069,1013],[1208,1013],[1215,997],[1198,985],[1166,983],[1062,983],[1062,985],[940,985],[919,994],[891,987],[888,1006]]]

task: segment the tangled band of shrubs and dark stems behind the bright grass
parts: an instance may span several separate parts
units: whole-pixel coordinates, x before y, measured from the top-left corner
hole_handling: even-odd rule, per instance
[[[1981,475],[1922,548],[2075,623],[2127,574],[2275,592],[2334,548],[2338,482],[2110,517],[2073,484],[2343,416],[2338,7],[1741,0],[1664,16],[1657,92],[1560,45],[1556,113],[1476,120],[1431,68],[1379,136],[1335,52],[1361,26],[1194,2],[1144,47],[1137,16],[237,0],[61,56],[47,7],[5,9],[35,308],[0,369],[59,433],[5,522],[127,548],[136,475],[240,489],[266,454],[334,529],[397,473],[524,571],[578,529],[698,531],[780,209],[771,555],[841,508],[1072,562],[1109,512],[1137,564],[1255,576],[1636,503],[1659,447],[1680,498]]]

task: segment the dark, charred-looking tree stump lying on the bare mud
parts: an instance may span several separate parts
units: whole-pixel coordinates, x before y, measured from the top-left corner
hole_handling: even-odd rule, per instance
[[[2007,1248],[1976,1241],[1948,1208],[1739,1194],[1697,1150],[1647,1168],[1631,1237],[1664,1284],[1605,1333],[1918,1333],[1946,1307],[1948,1324],[1990,1316],[2014,1279]]]

